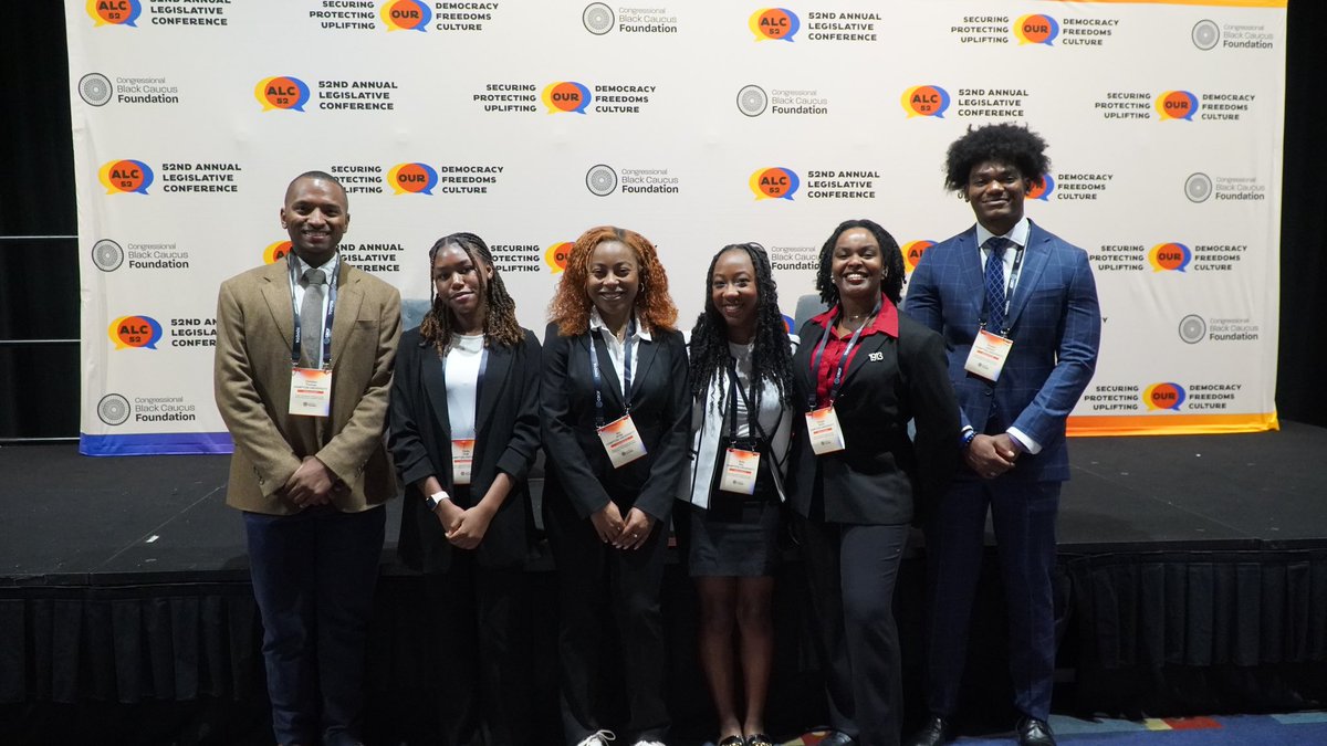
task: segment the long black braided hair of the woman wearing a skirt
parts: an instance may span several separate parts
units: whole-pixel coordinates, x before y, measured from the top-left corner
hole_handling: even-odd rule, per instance
[[[779,311],[779,287],[774,281],[774,268],[764,247],[758,243],[734,243],[719,250],[710,259],[705,273],[705,311],[695,319],[691,328],[691,396],[705,396],[711,381],[719,378],[719,372],[729,365],[729,325],[714,305],[714,292],[710,281],[719,258],[730,251],[744,252],[755,267],[755,344],[751,346],[751,370],[755,381],[770,381],[779,392],[779,404],[792,406],[792,345],[788,341],[788,327]],[[755,388],[755,401],[751,405],[759,411],[760,392]],[[719,386],[718,405],[723,408],[726,390]]]

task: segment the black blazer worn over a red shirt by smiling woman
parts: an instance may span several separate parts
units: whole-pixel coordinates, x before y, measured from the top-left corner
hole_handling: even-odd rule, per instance
[[[815,394],[811,360],[824,328],[815,320],[800,331],[792,358],[798,401]],[[938,496],[957,466],[958,402],[949,381],[945,340],[898,315],[898,338],[864,336],[844,370],[835,401],[847,447],[816,455],[804,418],[794,425],[788,502],[809,516],[816,481],[831,523],[900,524],[913,519],[918,499]],[[916,419],[916,442],[908,421]]]

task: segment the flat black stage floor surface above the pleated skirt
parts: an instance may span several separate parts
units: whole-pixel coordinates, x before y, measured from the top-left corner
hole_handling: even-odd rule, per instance
[[[1327,429],[1075,438],[1070,454],[1062,554],[1327,547]],[[224,506],[228,463],[0,447],[0,584],[247,580],[243,524]],[[389,510],[390,572],[399,500]]]

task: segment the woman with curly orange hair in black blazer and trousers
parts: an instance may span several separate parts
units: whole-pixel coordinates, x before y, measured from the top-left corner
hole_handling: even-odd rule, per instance
[[[544,526],[557,563],[565,742],[614,739],[600,721],[608,633],[620,644],[629,708],[613,725],[625,743],[658,745],[669,729],[660,585],[691,410],[686,348],[654,247],[634,231],[591,228],[572,247],[549,316]]]

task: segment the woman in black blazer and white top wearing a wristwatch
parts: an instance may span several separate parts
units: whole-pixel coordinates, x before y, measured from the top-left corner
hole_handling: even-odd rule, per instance
[[[433,304],[401,336],[389,430],[406,485],[398,551],[425,572],[435,690],[423,738],[472,743],[483,729],[488,743],[531,743],[522,625],[539,341],[518,325],[483,239],[445,236],[429,263]]]

